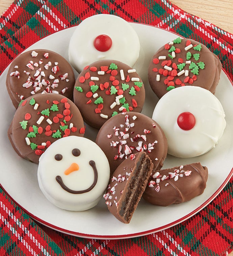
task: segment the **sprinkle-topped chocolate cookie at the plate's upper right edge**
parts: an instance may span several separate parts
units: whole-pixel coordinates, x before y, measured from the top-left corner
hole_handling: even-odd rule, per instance
[[[178,37],[152,57],[148,79],[158,98],[185,85],[200,86],[214,93],[221,70],[220,60],[205,45]]]

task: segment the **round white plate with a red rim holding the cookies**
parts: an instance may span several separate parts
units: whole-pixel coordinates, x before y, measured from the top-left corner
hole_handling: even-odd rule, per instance
[[[143,113],[151,117],[158,98],[148,84],[148,64],[160,46],[178,36],[144,24],[132,23],[132,26],[137,31],[141,43],[140,57],[135,68],[146,87],[147,96]],[[54,33],[33,44],[29,49],[50,49],[68,59],[69,38],[74,29],[75,27],[71,27]],[[61,210],[53,206],[40,191],[37,183],[37,165],[20,158],[8,141],[7,129],[15,109],[4,86],[6,73],[7,69],[0,76],[0,183],[20,207],[48,227],[71,235],[99,239],[127,238],[154,233],[184,221],[208,205],[224,188],[233,173],[233,86],[226,73],[222,71],[215,95],[226,113],[227,126],[223,137],[217,146],[205,155],[186,159],[167,156],[164,162],[164,168],[194,162],[201,162],[207,166],[209,178],[202,195],[189,202],[169,207],[153,206],[141,199],[129,224],[123,224],[111,215],[103,198],[96,207],[84,212]],[[94,140],[96,134],[94,129],[86,129],[86,137]]]

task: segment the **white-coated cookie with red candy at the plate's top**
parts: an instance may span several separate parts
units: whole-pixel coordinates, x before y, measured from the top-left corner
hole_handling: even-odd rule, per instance
[[[83,20],[75,29],[69,44],[69,62],[80,73],[98,60],[111,59],[133,66],[139,56],[136,31],[124,19],[98,14]]]

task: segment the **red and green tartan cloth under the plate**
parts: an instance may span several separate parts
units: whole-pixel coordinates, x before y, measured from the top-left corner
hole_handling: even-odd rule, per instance
[[[0,17],[0,73],[31,44],[99,13],[199,41],[219,57],[233,80],[233,35],[167,0],[16,0]],[[151,235],[119,240],[54,231],[32,220],[0,188],[0,255],[228,255],[233,250],[232,183],[233,177],[208,206],[188,220]]]

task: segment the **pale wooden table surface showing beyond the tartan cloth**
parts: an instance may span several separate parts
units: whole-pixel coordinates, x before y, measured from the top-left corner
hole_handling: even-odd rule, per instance
[[[0,0],[0,14],[3,14],[12,2],[13,0]],[[217,1],[217,6],[212,0],[171,0],[171,2],[185,12],[196,15],[233,34],[232,0]],[[233,252],[228,256],[233,256]]]

